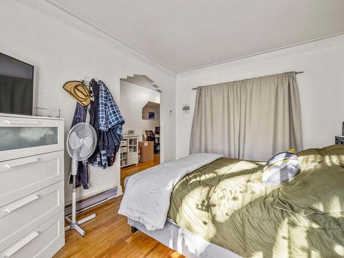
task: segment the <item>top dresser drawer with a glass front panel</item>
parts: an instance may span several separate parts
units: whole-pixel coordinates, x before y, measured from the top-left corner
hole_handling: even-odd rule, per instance
[[[63,150],[63,120],[0,116],[0,161]]]

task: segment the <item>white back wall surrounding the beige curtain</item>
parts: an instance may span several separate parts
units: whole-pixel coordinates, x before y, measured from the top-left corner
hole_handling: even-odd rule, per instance
[[[195,107],[191,88],[288,71],[304,71],[297,75],[304,149],[334,144],[344,121],[343,35],[178,74],[177,158],[189,154]],[[182,114],[183,103],[191,103],[190,114]]]

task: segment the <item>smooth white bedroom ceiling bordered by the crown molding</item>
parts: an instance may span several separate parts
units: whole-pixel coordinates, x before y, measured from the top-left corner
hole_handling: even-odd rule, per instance
[[[45,0],[174,72],[344,32],[343,0]]]

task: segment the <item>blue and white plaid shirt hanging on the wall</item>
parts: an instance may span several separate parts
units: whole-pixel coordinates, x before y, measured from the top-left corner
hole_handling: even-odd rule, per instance
[[[98,80],[99,86],[99,105],[98,105],[98,124],[99,130],[107,131],[109,128],[116,129],[116,133],[122,138],[122,125],[125,120],[120,114],[120,109],[115,103],[109,89],[103,81]]]

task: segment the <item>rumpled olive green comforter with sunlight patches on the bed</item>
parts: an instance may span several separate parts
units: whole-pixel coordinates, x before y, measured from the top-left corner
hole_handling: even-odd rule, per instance
[[[168,217],[243,257],[344,257],[344,147],[297,155],[281,186],[261,182],[264,162],[203,166],[175,186]]]

